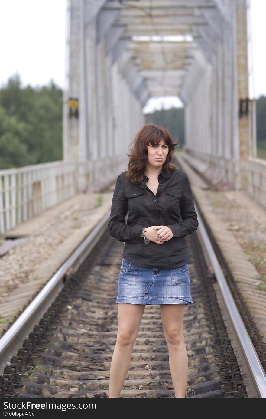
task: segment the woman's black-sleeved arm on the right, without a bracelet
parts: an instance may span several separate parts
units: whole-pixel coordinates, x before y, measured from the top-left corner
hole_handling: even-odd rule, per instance
[[[172,230],[174,237],[186,237],[186,235],[192,234],[198,227],[199,222],[194,207],[194,199],[189,183],[189,178],[185,173],[184,186],[182,191],[182,197],[180,201],[180,214],[182,221],[167,225]]]

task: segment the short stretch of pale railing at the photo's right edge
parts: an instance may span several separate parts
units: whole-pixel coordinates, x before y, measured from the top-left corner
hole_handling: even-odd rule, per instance
[[[266,160],[248,158],[248,194],[266,207]]]

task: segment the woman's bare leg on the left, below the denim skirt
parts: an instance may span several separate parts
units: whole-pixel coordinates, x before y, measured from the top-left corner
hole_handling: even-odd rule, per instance
[[[109,398],[121,393],[145,304],[118,303],[118,332],[110,367]]]

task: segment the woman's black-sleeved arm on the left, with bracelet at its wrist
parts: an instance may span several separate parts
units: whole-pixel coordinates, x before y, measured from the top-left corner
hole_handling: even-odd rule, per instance
[[[111,205],[110,220],[108,230],[112,237],[118,241],[143,242],[141,237],[142,225],[127,225],[125,216],[127,215],[127,197],[124,192],[124,184],[121,175],[118,176]]]

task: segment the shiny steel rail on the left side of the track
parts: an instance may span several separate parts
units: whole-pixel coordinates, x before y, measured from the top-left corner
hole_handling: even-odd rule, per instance
[[[25,336],[32,331],[34,326],[40,321],[44,313],[52,305],[53,301],[64,287],[64,277],[67,270],[75,264],[76,268],[88,256],[90,251],[98,242],[101,235],[107,228],[110,211],[93,228],[83,242],[76,248],[70,257],[60,266],[57,272],[44,285],[43,289],[21,313],[18,319],[0,338],[0,375],[3,374],[5,366],[15,356],[23,344]]]

